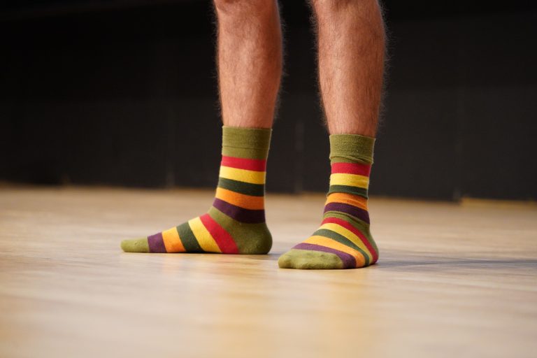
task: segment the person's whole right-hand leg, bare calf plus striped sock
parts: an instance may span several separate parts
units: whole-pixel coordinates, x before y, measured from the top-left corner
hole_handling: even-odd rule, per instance
[[[313,0],[331,176],[321,227],[278,260],[282,268],[374,264],[367,189],[378,122],[385,31],[377,0]]]

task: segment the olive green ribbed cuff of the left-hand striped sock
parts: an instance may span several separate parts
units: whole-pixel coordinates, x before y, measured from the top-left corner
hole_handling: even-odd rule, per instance
[[[222,155],[266,159],[272,129],[222,126]]]

